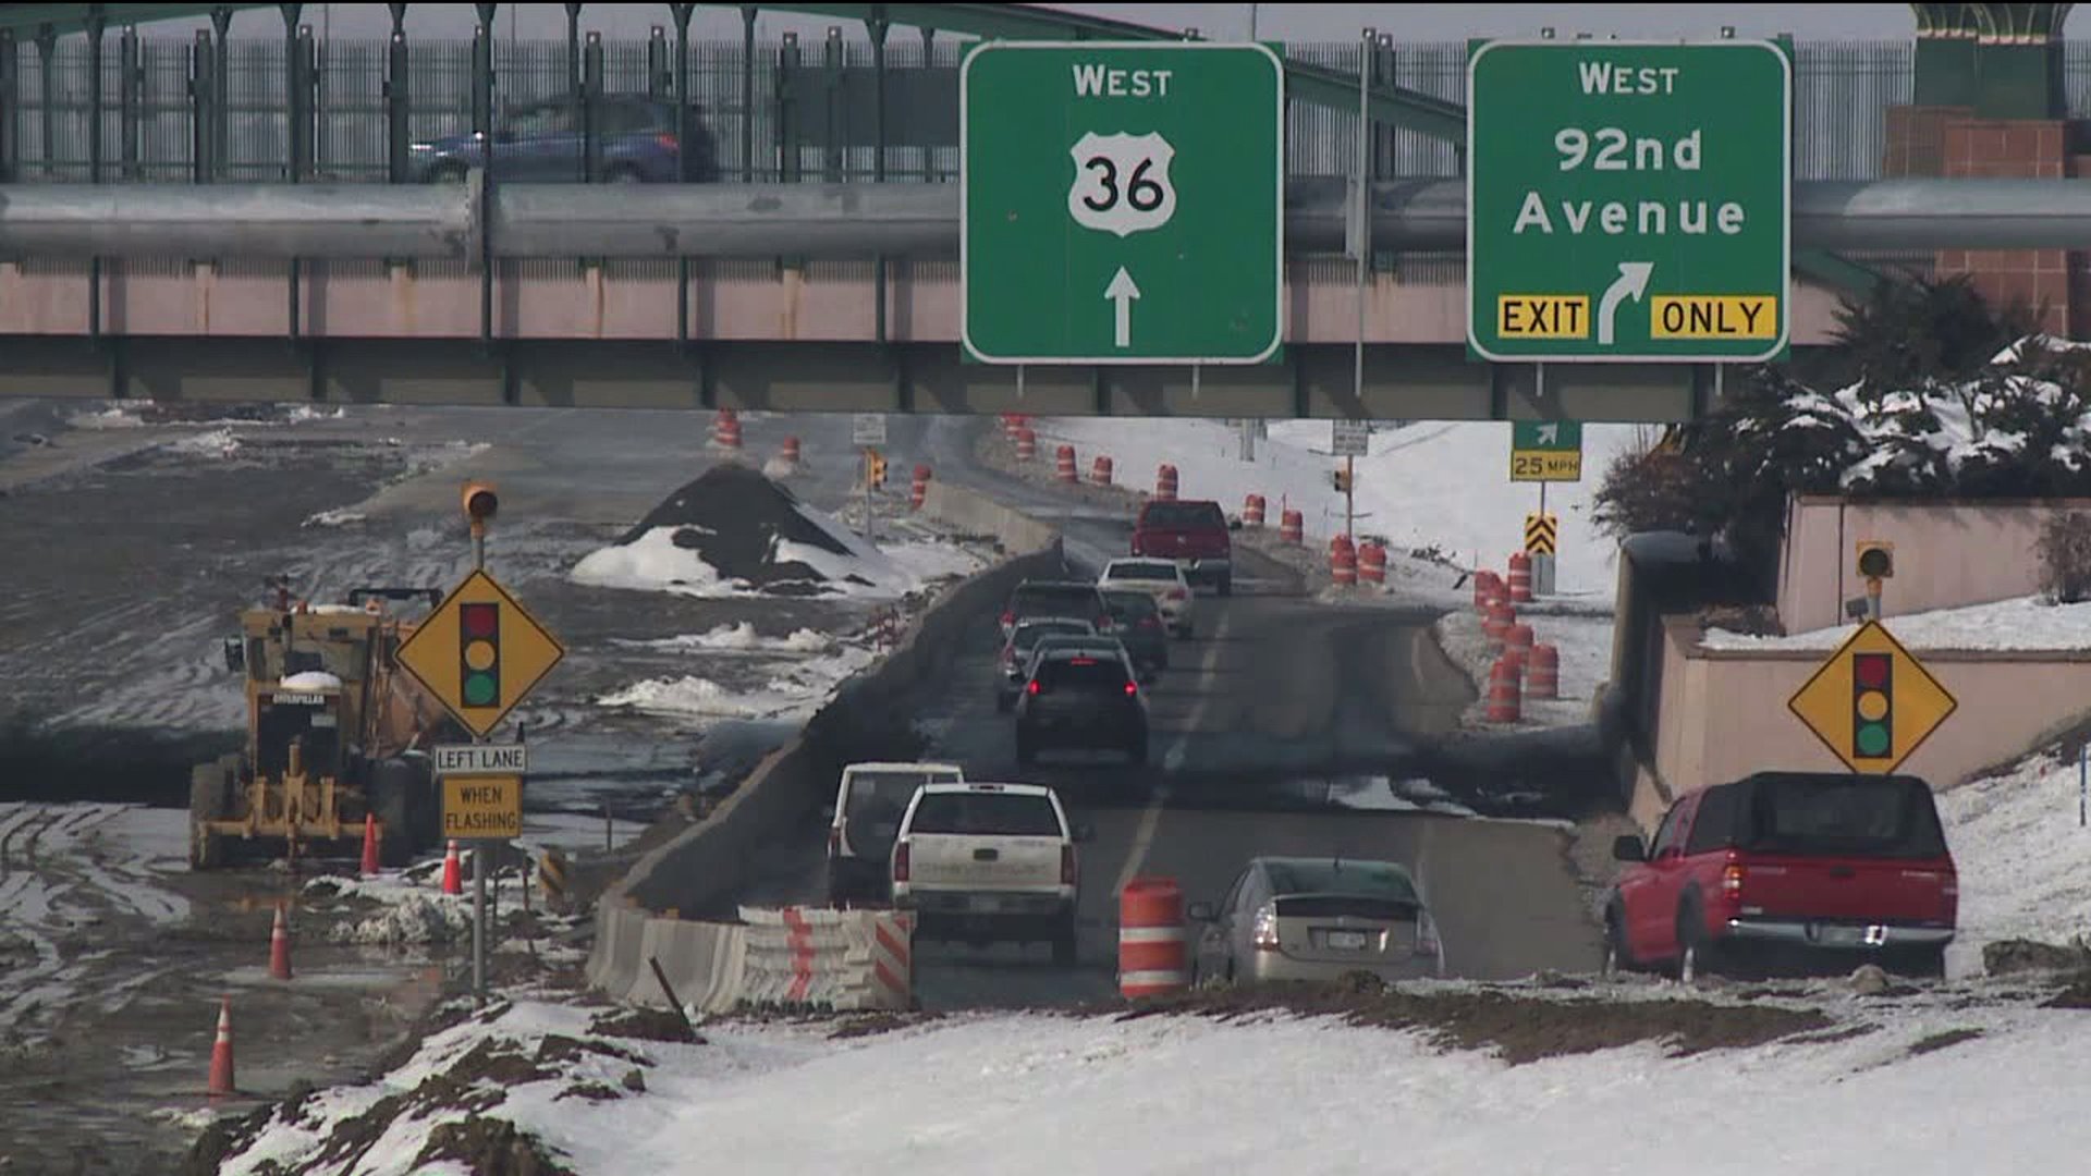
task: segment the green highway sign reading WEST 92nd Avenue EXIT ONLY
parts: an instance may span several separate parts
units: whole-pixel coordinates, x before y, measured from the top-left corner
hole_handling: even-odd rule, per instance
[[[1792,306],[1792,65],[1771,42],[1468,59],[1466,337],[1489,360],[1769,360]]]

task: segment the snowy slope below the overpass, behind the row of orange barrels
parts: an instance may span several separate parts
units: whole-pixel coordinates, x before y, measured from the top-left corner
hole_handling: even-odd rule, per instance
[[[1075,446],[1083,473],[1110,456],[1117,479],[1154,485],[1163,462],[1175,465],[1181,498],[1217,498],[1230,513],[1242,498],[1269,500],[1267,525],[1292,506],[1309,536],[1342,534],[1342,494],[1330,483],[1340,458],[1328,456],[1328,421],[1271,423],[1257,460],[1240,460],[1240,431],[1223,421],[1052,416],[1033,423],[1039,452]],[[1560,519],[1556,586],[1562,594],[1610,598],[1618,544],[1589,519],[1589,492],[1612,456],[1635,444],[1637,425],[1583,427],[1583,481],[1547,488]],[[1376,429],[1372,454],[1357,458],[1357,532],[1386,536],[1395,548],[1434,546],[1466,567],[1501,567],[1524,540],[1524,515],[1539,508],[1535,483],[1510,481],[1508,423],[1414,423]]]

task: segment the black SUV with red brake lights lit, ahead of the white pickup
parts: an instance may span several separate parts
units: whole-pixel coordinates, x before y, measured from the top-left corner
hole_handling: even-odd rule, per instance
[[[1016,762],[1056,747],[1123,749],[1127,762],[1148,762],[1148,699],[1123,651],[1046,647],[1033,657],[1016,697]]]

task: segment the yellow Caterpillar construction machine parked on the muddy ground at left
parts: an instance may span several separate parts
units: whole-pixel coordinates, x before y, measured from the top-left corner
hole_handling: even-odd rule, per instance
[[[374,816],[381,860],[404,866],[441,835],[429,747],[462,732],[410,674],[404,611],[439,588],[358,588],[345,605],[274,603],[240,611],[226,668],[245,674],[247,747],[197,764],[188,785],[188,864],[249,856],[355,854]],[[395,611],[401,607],[401,611]]]

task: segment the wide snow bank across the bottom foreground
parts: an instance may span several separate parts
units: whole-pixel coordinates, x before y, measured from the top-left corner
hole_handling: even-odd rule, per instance
[[[1671,986],[1644,988],[1673,998]],[[429,1080],[475,1071],[483,1113],[516,1122],[581,1174],[700,1174],[723,1161],[744,1176],[1612,1176],[1631,1168],[1623,1140],[1654,1130],[1658,1151],[1692,1157],[1696,1176],[1957,1176],[2068,1172],[2091,1147],[2078,1113],[2091,1048],[2083,1013],[1832,1004],[1838,1021],[1869,1032],[1694,1055],[1641,1042],[1510,1065],[1443,1050],[1416,1030],[1286,1013],[1016,1013],[849,1040],[824,1040],[824,1027],[707,1025],[703,1044],[682,1044],[613,1038],[588,1009],[519,1002],[431,1036],[378,1082],[274,1111],[220,1172],[462,1172],[420,1163],[437,1124],[468,1113]],[[535,1065],[496,1078],[496,1055]],[[1650,1128],[1652,1099],[1660,1128]],[[368,1151],[314,1163],[335,1124],[366,1113]]]

